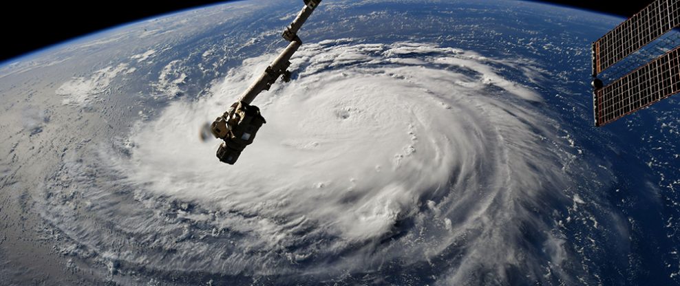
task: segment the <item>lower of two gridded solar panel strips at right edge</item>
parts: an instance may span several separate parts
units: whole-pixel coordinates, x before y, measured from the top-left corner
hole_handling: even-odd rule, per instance
[[[596,90],[595,125],[602,126],[679,92],[680,48],[676,47]]]

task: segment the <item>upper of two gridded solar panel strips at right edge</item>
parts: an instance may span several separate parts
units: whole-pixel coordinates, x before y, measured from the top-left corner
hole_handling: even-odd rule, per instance
[[[678,0],[657,0],[593,43],[593,75],[680,25]]]

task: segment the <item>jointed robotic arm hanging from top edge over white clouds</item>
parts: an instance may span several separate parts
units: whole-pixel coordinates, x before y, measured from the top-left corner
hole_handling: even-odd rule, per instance
[[[293,23],[290,23],[282,35],[286,41],[290,41],[286,50],[265,69],[262,76],[244,91],[237,102],[224,112],[222,116],[215,119],[210,126],[211,133],[219,139],[224,140],[217,148],[217,158],[226,164],[234,164],[246,146],[253,143],[255,133],[262,124],[266,123],[259,108],[251,105],[257,95],[262,91],[269,90],[276,80],[281,78],[288,82],[290,80],[290,58],[297,52],[302,45],[302,41],[297,36],[302,24],[307,21],[314,12],[321,0],[304,0],[305,6],[297,14]]]

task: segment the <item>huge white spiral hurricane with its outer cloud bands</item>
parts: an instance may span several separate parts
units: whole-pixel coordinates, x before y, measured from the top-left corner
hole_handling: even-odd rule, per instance
[[[621,218],[587,211],[580,193],[610,174],[573,168],[559,116],[527,84],[540,68],[525,58],[306,43],[293,80],[253,102],[267,120],[255,143],[235,166],[220,163],[202,126],[274,57],[247,58],[211,92],[141,116],[110,144],[85,144],[94,159],[66,155],[55,177],[67,179],[39,208],[72,239],[59,251],[108,276],[558,285],[597,272],[578,263],[587,241],[565,223],[615,229],[602,235],[624,243]],[[76,195],[83,203],[63,203]]]

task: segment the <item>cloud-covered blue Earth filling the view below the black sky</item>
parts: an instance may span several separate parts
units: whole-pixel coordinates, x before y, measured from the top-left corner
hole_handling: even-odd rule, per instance
[[[0,65],[1,285],[679,285],[680,103],[593,126],[624,19],[324,0],[234,166],[202,126],[302,1],[131,23]]]

